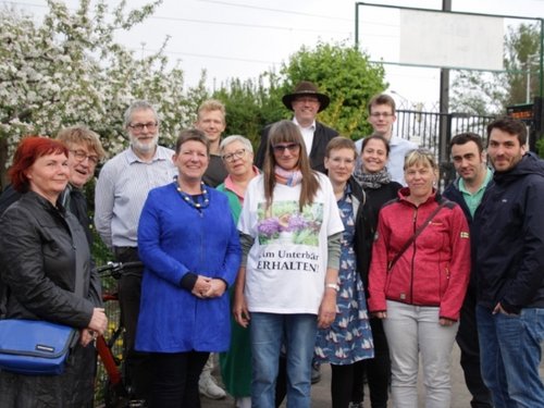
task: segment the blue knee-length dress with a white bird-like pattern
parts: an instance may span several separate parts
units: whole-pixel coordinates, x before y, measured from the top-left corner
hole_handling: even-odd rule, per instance
[[[316,360],[335,366],[351,364],[374,357],[362,281],[356,270],[354,250],[355,215],[349,186],[338,200],[344,233],[342,235],[339,290],[336,295],[336,319],[329,329],[318,331]]]

